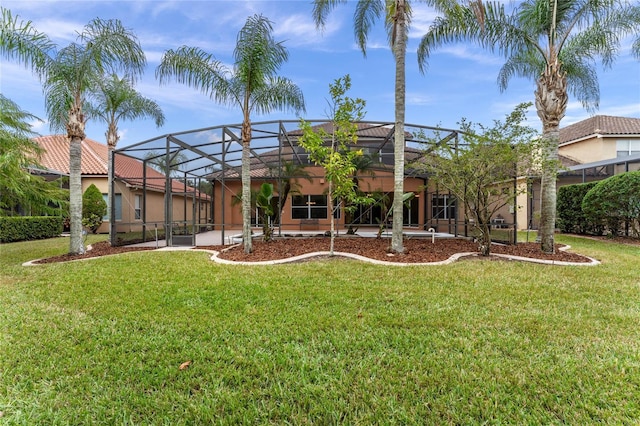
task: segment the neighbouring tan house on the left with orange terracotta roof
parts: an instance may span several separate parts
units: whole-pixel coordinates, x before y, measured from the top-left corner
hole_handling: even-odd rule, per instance
[[[41,164],[49,172],[60,176],[69,175],[69,141],[65,135],[41,136],[34,138],[43,149]],[[82,191],[94,184],[102,192],[105,201],[108,193],[107,176],[108,149],[105,144],[85,138],[82,142]],[[142,185],[142,176],[147,184]],[[115,166],[115,225],[116,232],[139,232],[158,226],[163,228],[165,221],[165,176],[150,166],[143,166],[140,160],[119,157]],[[211,219],[210,197],[201,194],[193,187],[171,179],[173,193],[173,216],[181,222],[191,221],[208,223]],[[98,229],[100,233],[109,231],[109,213]]]

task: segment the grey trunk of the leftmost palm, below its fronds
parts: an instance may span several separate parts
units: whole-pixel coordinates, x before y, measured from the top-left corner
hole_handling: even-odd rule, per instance
[[[69,253],[85,252],[82,236],[82,139],[74,136],[69,144]]]

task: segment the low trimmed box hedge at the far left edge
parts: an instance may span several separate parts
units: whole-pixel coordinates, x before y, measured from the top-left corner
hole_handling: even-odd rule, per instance
[[[0,217],[0,243],[40,240],[62,233],[61,216]]]

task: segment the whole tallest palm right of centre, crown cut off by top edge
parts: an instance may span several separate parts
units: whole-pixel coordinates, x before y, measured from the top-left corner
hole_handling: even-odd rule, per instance
[[[450,8],[454,0],[413,0],[435,6],[438,9]],[[313,17],[318,27],[324,27],[329,12],[338,4],[347,0],[314,0]],[[393,231],[391,250],[404,251],[402,243],[402,196],[404,193],[404,123],[405,123],[405,58],[407,52],[407,34],[411,23],[410,0],[358,0],[354,13],[354,33],[358,46],[366,56],[367,38],[376,20],[384,19],[389,43],[395,58],[395,129],[394,129],[394,166],[393,166]]]

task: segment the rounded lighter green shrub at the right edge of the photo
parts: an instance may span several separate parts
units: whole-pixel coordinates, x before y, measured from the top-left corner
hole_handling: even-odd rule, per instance
[[[598,182],[582,200],[582,211],[590,220],[604,225],[611,235],[627,226],[640,233],[640,171],[611,176]]]

